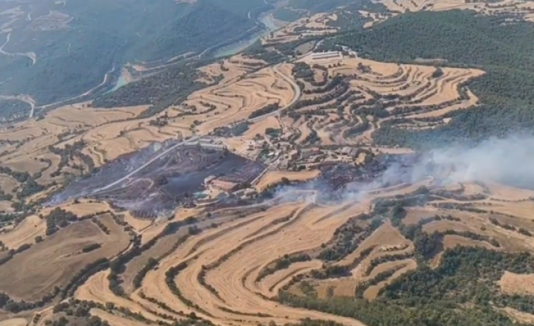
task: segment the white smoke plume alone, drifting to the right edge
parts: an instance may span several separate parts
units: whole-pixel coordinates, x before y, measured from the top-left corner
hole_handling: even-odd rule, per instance
[[[428,151],[408,162],[391,163],[374,180],[346,184],[341,200],[362,201],[373,190],[430,179],[435,184],[499,182],[534,189],[534,136],[531,134],[491,138],[475,146],[451,145]],[[303,195],[303,190],[310,189],[319,196],[332,192],[324,181],[313,180],[304,185],[281,187],[277,196],[295,200]]]

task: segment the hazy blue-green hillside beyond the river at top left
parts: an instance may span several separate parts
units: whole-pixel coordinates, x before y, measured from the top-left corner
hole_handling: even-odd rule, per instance
[[[3,2],[0,12],[19,5]],[[248,12],[259,6],[263,0],[28,1],[0,29],[0,46],[10,37],[0,54],[0,93],[29,94],[37,105],[69,99],[114,67],[198,54],[240,35],[255,27]]]

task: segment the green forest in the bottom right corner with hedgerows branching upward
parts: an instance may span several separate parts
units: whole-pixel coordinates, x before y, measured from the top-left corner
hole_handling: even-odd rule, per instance
[[[422,197],[412,197],[418,198]],[[411,201],[410,197],[405,199]],[[427,234],[423,232],[423,225],[436,219],[454,218],[435,216],[422,219],[416,225],[404,225],[402,221],[406,217],[406,210],[403,208],[403,201],[402,198],[378,201],[375,211],[367,218],[373,218],[370,225],[375,227],[380,225],[384,218],[389,218],[392,225],[413,242],[414,258],[418,262],[415,270],[406,272],[382,287],[377,298],[372,301],[363,298],[363,291],[370,285],[386,280],[392,272],[379,273],[374,279],[358,284],[354,296],[320,299],[315,290],[298,296],[291,294],[285,287],[279,291],[279,301],[290,306],[355,318],[368,326],[511,326],[521,324],[500,312],[499,308],[510,307],[525,313],[534,313],[534,296],[504,294],[497,283],[505,271],[517,274],[534,272],[534,256],[530,253],[506,253],[480,247],[456,246],[444,251],[437,268],[430,268],[428,262],[442,250],[444,234],[456,232],[448,230],[444,233]],[[356,217],[362,218],[365,217]],[[350,222],[349,220],[348,223]],[[351,240],[355,238],[354,234],[360,233],[361,230],[358,227],[342,225],[336,232],[341,241],[332,247],[334,250],[328,250],[328,256],[330,260],[339,261],[353,251],[354,244]],[[462,236],[472,239],[480,237],[479,234],[470,232],[464,232]],[[361,256],[365,257],[370,251],[372,248],[365,253],[362,251]],[[341,255],[332,256],[333,252]],[[385,261],[404,259],[406,256],[382,258],[373,261],[375,264],[372,264],[372,268]],[[339,266],[334,265],[324,270],[329,271],[328,277],[344,275],[343,268]],[[312,277],[317,279],[324,278],[323,274],[313,271],[311,273]]]

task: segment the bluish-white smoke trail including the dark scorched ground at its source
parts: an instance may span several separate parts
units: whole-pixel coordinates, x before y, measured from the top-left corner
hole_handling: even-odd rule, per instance
[[[499,182],[534,189],[534,136],[492,138],[476,146],[449,146],[427,153],[381,155],[363,169],[340,163],[315,180],[280,187],[276,196],[310,196],[313,189],[317,199],[359,201],[376,189],[430,179],[437,185]]]

